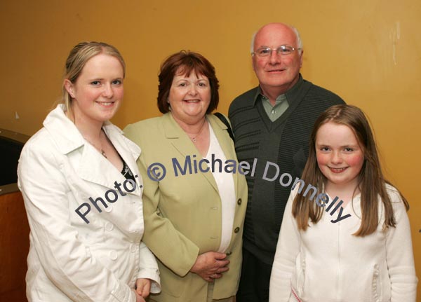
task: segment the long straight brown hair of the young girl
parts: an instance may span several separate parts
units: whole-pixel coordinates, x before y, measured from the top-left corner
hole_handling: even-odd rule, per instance
[[[356,139],[363,149],[364,163],[359,173],[359,189],[361,191],[361,225],[354,233],[356,236],[365,236],[373,233],[378,225],[378,198],[382,200],[385,209],[384,227],[396,226],[392,202],[387,194],[386,184],[389,181],[383,177],[380,167],[380,160],[377,147],[371,132],[370,124],[363,111],[352,105],[335,105],[324,111],[314,123],[312,135],[309,142],[309,157],[302,172],[302,180],[306,184],[312,184],[317,188],[323,188],[326,177],[321,173],[316,159],[316,135],[321,125],[333,122],[339,125],[346,125],[354,132]],[[399,192],[400,194],[400,192]],[[409,209],[408,202],[401,195],[406,210]],[[298,228],[307,230],[309,220],[316,224],[323,214],[323,207],[316,205],[310,200],[309,195],[298,194],[293,202],[293,217],[295,217]]]

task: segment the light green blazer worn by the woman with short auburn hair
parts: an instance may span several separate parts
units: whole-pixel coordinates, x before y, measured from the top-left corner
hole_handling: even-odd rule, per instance
[[[227,160],[237,161],[227,126],[212,114],[206,118]],[[145,186],[145,233],[142,241],[159,259],[162,288],[161,294],[152,294],[151,297],[163,302],[206,301],[208,282],[199,275],[189,273],[189,270],[199,254],[215,252],[220,247],[222,212],[215,179],[210,171],[201,172],[199,167],[195,172],[194,160],[197,163],[202,156],[171,113],[128,125],[124,132],[142,149],[138,159]],[[183,170],[188,156],[192,173],[187,168],[182,175],[175,162]],[[163,176],[161,167],[149,170],[151,177],[148,176],[148,167],[153,163],[160,163],[166,169],[165,177],[159,181],[152,178]],[[203,163],[201,168],[206,170],[206,164]],[[175,171],[178,176],[175,176]],[[232,238],[226,252],[229,270],[215,280],[214,299],[234,296],[239,284],[247,185],[238,168],[233,177],[236,209]]]

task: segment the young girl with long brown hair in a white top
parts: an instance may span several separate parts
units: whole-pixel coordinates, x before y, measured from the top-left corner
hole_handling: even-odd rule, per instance
[[[305,184],[326,203],[290,194],[270,280],[270,302],[415,302],[408,203],[383,177],[363,112],[327,109],[314,124]],[[332,223],[338,196],[351,217]]]

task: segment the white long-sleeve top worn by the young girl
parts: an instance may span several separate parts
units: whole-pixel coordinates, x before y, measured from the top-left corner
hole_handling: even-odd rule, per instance
[[[337,214],[323,212],[317,224],[298,231],[291,212],[297,189],[291,192],[276,247],[269,302],[415,302],[417,277],[408,216],[396,189],[387,185],[387,192],[396,228],[382,231],[385,218],[379,201],[377,230],[365,237],[352,235],[361,224],[360,195],[344,209],[342,215],[351,217],[333,224]]]

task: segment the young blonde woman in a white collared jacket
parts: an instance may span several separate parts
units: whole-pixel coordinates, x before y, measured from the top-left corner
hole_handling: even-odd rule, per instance
[[[156,260],[141,242],[140,149],[108,121],[122,102],[124,76],[113,46],[74,46],[63,104],[22,150],[29,301],[142,302],[159,292]]]

